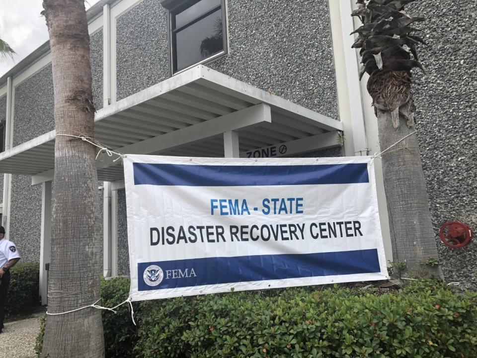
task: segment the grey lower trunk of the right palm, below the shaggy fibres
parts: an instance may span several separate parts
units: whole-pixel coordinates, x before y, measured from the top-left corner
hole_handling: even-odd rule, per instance
[[[377,109],[377,117],[381,150],[415,131],[402,117],[395,128],[391,111]],[[413,275],[438,273],[422,265],[438,256],[416,134],[383,153],[382,163],[394,260]]]

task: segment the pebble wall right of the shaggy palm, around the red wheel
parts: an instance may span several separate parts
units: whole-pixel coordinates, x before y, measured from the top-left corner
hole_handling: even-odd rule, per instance
[[[477,1],[421,0],[407,6],[423,16],[418,47],[426,74],[413,71],[424,174],[435,232],[458,220],[477,232]],[[461,249],[438,241],[448,281],[477,288],[477,241]]]

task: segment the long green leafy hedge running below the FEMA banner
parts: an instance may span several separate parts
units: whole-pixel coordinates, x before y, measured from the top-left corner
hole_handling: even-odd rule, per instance
[[[106,305],[128,280],[104,281]],[[439,280],[179,297],[103,312],[106,357],[477,357],[477,294]]]

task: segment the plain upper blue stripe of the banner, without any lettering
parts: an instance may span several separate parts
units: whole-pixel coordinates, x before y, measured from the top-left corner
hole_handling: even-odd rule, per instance
[[[366,183],[368,165],[211,166],[133,163],[134,184],[258,186]]]

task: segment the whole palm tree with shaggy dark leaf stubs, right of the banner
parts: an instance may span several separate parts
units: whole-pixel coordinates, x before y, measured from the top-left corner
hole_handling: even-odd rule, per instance
[[[435,233],[429,212],[426,183],[415,134],[412,68],[423,70],[414,23],[424,20],[404,11],[414,0],[357,0],[352,16],[362,22],[353,48],[360,48],[361,77],[370,75],[367,88],[378,118],[384,185],[395,261],[406,262],[411,274],[429,273],[422,266],[437,258]]]

